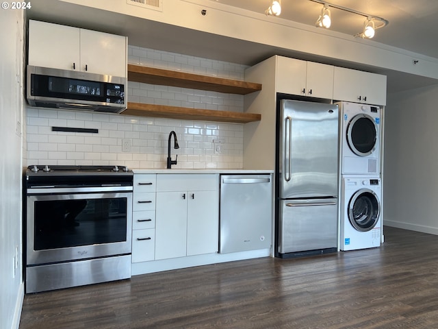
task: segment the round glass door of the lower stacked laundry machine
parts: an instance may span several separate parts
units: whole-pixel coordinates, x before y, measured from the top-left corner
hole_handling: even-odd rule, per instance
[[[369,188],[361,188],[348,202],[348,219],[359,232],[368,232],[376,226],[380,216],[380,202],[376,193]]]

